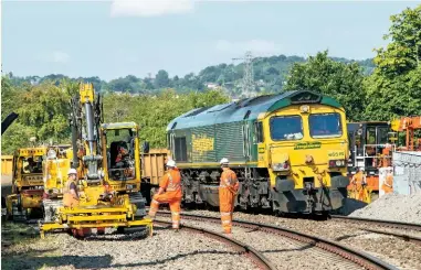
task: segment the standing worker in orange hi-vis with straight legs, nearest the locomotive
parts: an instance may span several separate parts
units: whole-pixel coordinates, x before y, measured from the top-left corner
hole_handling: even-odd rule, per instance
[[[224,234],[231,235],[232,213],[234,210],[234,198],[239,190],[239,181],[235,173],[229,168],[229,160],[223,158],[220,162],[222,168],[221,182],[219,185],[219,207],[221,223]]]

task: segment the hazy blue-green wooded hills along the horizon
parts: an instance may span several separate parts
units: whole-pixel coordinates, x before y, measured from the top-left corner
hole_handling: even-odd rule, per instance
[[[350,61],[346,58],[331,57],[331,60],[339,63],[350,63]],[[292,65],[294,63],[304,62],[306,62],[304,57],[285,55],[254,58],[253,69],[256,91],[261,93],[264,89],[264,93],[276,93],[282,90]],[[373,68],[371,60],[359,61],[358,63],[365,74],[371,73]],[[175,76],[173,78],[170,78],[168,73],[161,69],[155,75],[155,78],[139,78],[134,75],[127,75],[126,77],[112,79],[108,83],[102,80],[99,77],[70,78],[62,74],[51,74],[45,77],[28,76],[23,78],[13,76],[13,74],[10,73],[9,77],[11,84],[14,86],[41,84],[45,82],[53,82],[59,86],[63,79],[74,83],[83,80],[85,83],[93,83],[95,89],[101,93],[118,91],[152,95],[168,87],[175,88],[177,93],[188,93],[191,89],[204,90],[208,84],[217,84],[225,88],[227,93],[231,96],[241,96],[243,68],[244,65],[242,63],[238,65],[220,64],[208,66],[197,75],[190,73],[185,77]]]

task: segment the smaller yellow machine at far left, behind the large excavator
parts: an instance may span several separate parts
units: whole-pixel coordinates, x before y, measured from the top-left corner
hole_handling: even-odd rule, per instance
[[[21,148],[14,152],[12,194],[6,199],[8,219],[25,222],[36,212],[42,216],[42,159],[45,153],[45,147]]]

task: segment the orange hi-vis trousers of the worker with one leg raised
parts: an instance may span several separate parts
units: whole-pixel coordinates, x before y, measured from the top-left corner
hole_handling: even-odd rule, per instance
[[[155,195],[150,202],[149,216],[155,217],[160,203],[168,203],[171,210],[172,228],[180,228],[180,210],[181,197],[173,196],[172,192],[166,192],[160,195]]]

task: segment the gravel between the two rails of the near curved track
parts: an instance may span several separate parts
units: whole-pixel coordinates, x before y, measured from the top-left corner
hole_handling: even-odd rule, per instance
[[[165,217],[159,219],[169,220]],[[198,220],[183,220],[183,224],[217,233],[222,230],[219,224]],[[276,269],[364,269],[339,256],[278,235],[235,227],[233,238],[261,251]]]

